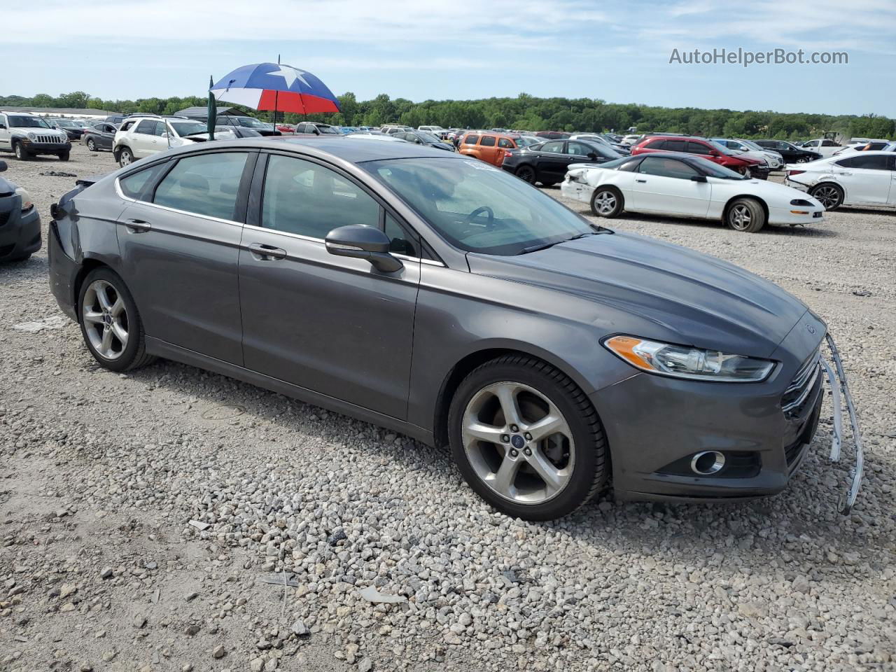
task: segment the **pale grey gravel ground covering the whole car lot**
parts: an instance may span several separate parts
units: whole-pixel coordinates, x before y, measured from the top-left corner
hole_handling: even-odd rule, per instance
[[[45,225],[73,178],[41,172],[114,168],[80,145],[68,163],[8,163]],[[444,450],[189,366],[100,369],[59,319],[42,250],[0,267],[0,669],[896,668],[892,211],[755,235],[612,224],[739,263],[823,315],[866,440],[851,515],[836,509],[851,459],[826,463],[823,423],[772,499],[605,493],[563,521],[513,521]]]

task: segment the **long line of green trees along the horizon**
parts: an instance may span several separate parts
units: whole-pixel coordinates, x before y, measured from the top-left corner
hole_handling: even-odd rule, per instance
[[[440,125],[445,128],[515,128],[522,130],[556,130],[627,132],[668,132],[704,136],[776,138],[803,140],[833,131],[848,137],[894,138],[896,121],[886,116],[785,114],[759,110],[660,108],[633,103],[607,103],[590,98],[535,98],[521,93],[515,98],[478,100],[412,100],[391,99],[381,93],[375,99],[358,100],[354,93],[339,96],[342,111],[338,114],[280,114],[288,123],[307,118],[337,125],[407,124]],[[151,112],[170,115],[183,108],[204,106],[205,96],[186,98],[146,98],[137,100],[103,100],[84,91],[73,91],[58,97],[41,93],[33,98],[0,96],[0,106],[33,108],[95,108],[132,113]],[[221,102],[220,106],[228,105]],[[234,106],[239,108],[239,106]],[[271,112],[240,108],[246,114],[272,120]]]

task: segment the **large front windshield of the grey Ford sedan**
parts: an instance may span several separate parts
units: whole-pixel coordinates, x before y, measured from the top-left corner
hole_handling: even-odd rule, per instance
[[[522,254],[595,228],[518,177],[477,159],[387,159],[360,164],[468,252]]]

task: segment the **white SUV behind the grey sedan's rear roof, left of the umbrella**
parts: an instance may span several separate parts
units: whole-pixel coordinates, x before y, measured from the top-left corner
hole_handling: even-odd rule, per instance
[[[205,124],[185,116],[128,116],[115,134],[112,153],[119,166],[129,166],[159,151],[205,140],[204,133]]]

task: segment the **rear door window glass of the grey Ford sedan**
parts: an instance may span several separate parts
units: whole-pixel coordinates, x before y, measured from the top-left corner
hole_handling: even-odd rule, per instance
[[[180,159],[159,182],[152,202],[220,220],[236,220],[237,193],[247,157],[240,151]]]

